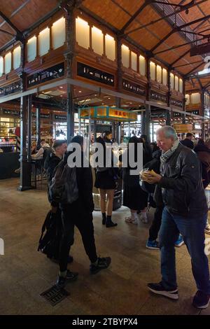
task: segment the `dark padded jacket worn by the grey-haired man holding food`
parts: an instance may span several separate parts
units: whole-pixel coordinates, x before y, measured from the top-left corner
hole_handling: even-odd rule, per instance
[[[174,214],[198,219],[207,214],[201,166],[195,152],[180,144],[172,157],[161,165],[160,172],[162,179],[155,189],[155,202],[160,204],[157,196],[162,195],[165,206]]]

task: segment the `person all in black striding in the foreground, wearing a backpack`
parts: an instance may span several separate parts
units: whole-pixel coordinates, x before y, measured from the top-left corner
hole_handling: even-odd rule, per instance
[[[83,165],[84,146],[83,137],[76,136],[71,139],[71,143],[77,143],[80,146],[81,167],[76,167],[76,181],[78,185],[78,199],[71,204],[60,204],[62,209],[62,241],[59,251],[59,276],[57,286],[62,287],[66,281],[73,281],[78,273],[70,272],[67,269],[67,261],[70,248],[73,244],[73,232],[76,226],[83,239],[83,246],[88,258],[90,259],[90,273],[96,274],[102,269],[109,267],[111,258],[99,258],[97,256],[94,244],[94,227],[92,223],[92,211],[94,203],[92,199],[92,170]],[[64,163],[67,163],[68,157],[72,152],[67,152],[64,156]]]

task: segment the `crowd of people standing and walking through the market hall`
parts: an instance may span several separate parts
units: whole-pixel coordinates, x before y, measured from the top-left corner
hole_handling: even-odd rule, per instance
[[[100,206],[102,211],[102,225],[114,228],[117,223],[112,221],[113,197],[118,179],[123,179],[123,205],[130,209],[130,216],[125,218],[128,225],[148,223],[147,211],[155,208],[153,223],[149,229],[146,247],[160,250],[161,274],[159,283],[148,283],[148,289],[158,295],[171,299],[179,299],[176,282],[176,262],[174,246],[186,244],[192,261],[193,276],[197,284],[197,293],[193,298],[193,305],[205,308],[209,305],[210,281],[207,255],[204,253],[204,231],[209,230],[207,197],[204,188],[210,182],[210,140],[200,141],[194,148],[192,134],[179,141],[175,130],[170,126],[160,128],[157,132],[157,143],[148,143],[146,135],[141,138],[131,137],[124,157],[120,157],[121,166],[113,166],[112,153],[111,167],[104,165],[95,169],[94,186],[99,189]],[[192,135],[192,136],[191,136]],[[106,132],[104,137],[98,137],[97,143],[102,145],[104,153],[111,145],[112,134]],[[192,143],[191,143],[192,141]],[[44,156],[45,148],[50,146],[42,141],[42,149],[35,157]],[[80,145],[80,156],[84,155],[83,137],[73,137],[71,143]],[[134,154],[137,162],[138,144],[143,144],[144,171],[131,174],[133,167],[123,167],[123,161]],[[193,151],[194,148],[194,151]],[[131,151],[132,150],[132,151]],[[49,150],[48,150],[49,151]],[[68,169],[71,174],[71,183],[75,200],[71,203],[58,202],[53,199],[50,188],[56,183],[56,172],[63,168],[60,176],[67,173],[68,157],[72,151],[67,151],[66,141],[54,141],[52,151],[45,158],[44,167],[48,175],[48,198],[51,204],[52,216],[57,216],[62,223],[62,234],[59,241],[59,275],[57,286],[64,287],[67,281],[77,279],[78,273],[67,269],[73,258],[69,255],[73,245],[74,227],[76,226],[83,240],[85,253],[90,260],[90,273],[96,274],[111,264],[111,257],[100,258],[94,242],[94,225],[92,212],[94,202],[92,197],[92,169],[89,167],[76,167]],[[81,162],[83,163],[83,162]],[[130,164],[130,162],[127,162]],[[72,181],[75,175],[76,181]],[[140,181],[139,181],[140,178]],[[53,183],[52,183],[53,182]],[[64,186],[63,186],[64,189]],[[159,241],[157,241],[159,236]]]

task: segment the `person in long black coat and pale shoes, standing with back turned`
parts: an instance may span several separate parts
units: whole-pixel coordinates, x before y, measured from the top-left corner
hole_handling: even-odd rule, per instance
[[[139,174],[131,174],[131,170],[137,169],[130,167],[130,151],[134,150],[134,162],[137,162],[137,148],[138,144],[142,143],[142,139],[138,137],[130,137],[128,148],[125,154],[120,156],[120,161],[127,157],[127,167],[123,167],[123,206],[130,209],[130,216],[125,217],[127,223],[138,224],[137,211],[141,212],[141,221],[146,223],[146,207],[148,204],[148,193],[141,189],[139,184]],[[144,151],[144,149],[143,149]],[[143,153],[144,158],[144,153]]]

